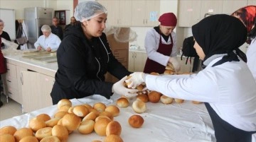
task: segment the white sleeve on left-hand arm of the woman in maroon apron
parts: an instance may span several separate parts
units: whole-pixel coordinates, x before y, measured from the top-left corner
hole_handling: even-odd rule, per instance
[[[159,47],[159,42],[157,42],[157,39],[159,38],[156,37],[153,30],[149,30],[148,32],[146,32],[146,37],[145,37],[146,54],[149,57],[149,59],[156,61],[163,66],[166,66],[170,57],[165,56],[164,54],[161,54],[159,52],[156,52],[156,50]]]

